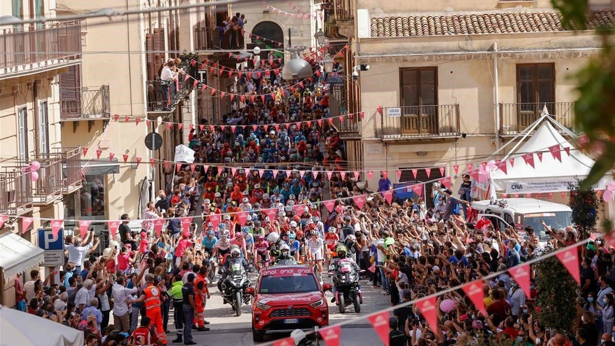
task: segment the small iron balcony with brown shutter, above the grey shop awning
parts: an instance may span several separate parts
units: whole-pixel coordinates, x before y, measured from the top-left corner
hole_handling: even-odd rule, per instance
[[[60,120],[109,119],[109,86],[60,89]]]

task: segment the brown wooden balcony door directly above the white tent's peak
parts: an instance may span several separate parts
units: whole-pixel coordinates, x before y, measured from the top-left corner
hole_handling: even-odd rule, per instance
[[[533,123],[544,105],[550,114],[555,111],[555,66],[552,63],[517,65],[517,116],[523,129]]]

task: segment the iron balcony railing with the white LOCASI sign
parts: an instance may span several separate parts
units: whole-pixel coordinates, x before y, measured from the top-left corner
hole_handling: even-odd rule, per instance
[[[376,113],[378,114],[378,113]],[[459,105],[383,108],[376,135],[383,140],[459,137]]]

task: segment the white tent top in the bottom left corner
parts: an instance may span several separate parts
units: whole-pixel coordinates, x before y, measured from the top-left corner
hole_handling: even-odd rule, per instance
[[[0,305],[0,346],[83,346],[83,332]]]

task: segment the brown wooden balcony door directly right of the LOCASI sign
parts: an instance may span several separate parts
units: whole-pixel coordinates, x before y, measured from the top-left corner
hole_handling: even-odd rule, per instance
[[[402,132],[437,131],[437,67],[408,68],[400,71]]]

